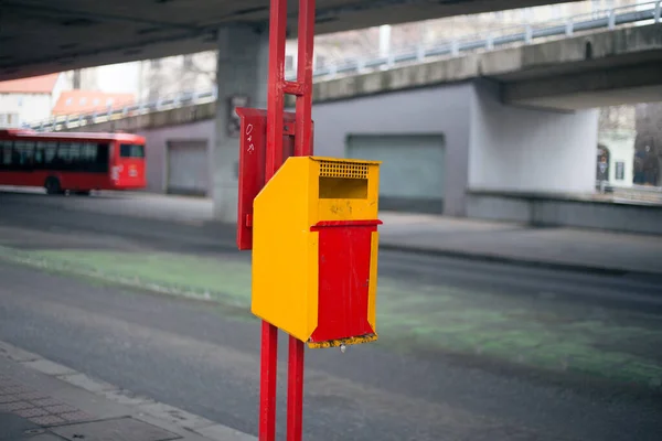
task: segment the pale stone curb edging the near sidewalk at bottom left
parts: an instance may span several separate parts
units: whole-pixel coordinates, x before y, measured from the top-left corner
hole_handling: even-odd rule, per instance
[[[94,379],[86,374],[71,369],[38,354],[21,349],[0,341],[0,357],[9,358],[19,365],[49,375],[61,381],[84,389],[102,400],[130,408],[137,416],[147,417],[164,424],[175,426],[183,432],[202,437],[210,441],[257,441],[257,438],[227,426],[207,420],[185,410],[169,406],[151,398],[136,395],[106,381]]]

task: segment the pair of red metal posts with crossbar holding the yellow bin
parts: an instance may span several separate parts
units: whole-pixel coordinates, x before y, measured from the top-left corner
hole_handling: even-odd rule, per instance
[[[295,155],[312,154],[312,53],[314,0],[299,0],[299,53],[297,80],[285,77],[287,0],[271,0],[269,10],[269,79],[267,90],[267,155],[265,181],[285,161],[282,132],[285,94],[297,96]],[[303,342],[289,337],[287,439],[300,441],[303,413]],[[259,440],[276,437],[276,372],[278,329],[263,321],[260,354]]]

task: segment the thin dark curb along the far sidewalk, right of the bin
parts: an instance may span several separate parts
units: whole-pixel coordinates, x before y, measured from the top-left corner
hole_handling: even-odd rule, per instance
[[[511,263],[520,267],[530,267],[530,268],[546,268],[546,269],[556,269],[562,271],[572,271],[572,272],[581,272],[581,273],[594,273],[600,276],[644,276],[644,277],[662,277],[662,271],[645,271],[645,270],[630,270],[624,268],[605,268],[592,265],[581,265],[581,263],[564,263],[564,262],[555,262],[548,260],[536,260],[536,259],[527,259],[522,257],[509,257],[503,255],[490,255],[490,254],[479,254],[471,251],[460,251],[452,249],[431,249],[425,247],[416,247],[408,245],[398,245],[398,244],[388,244],[381,243],[380,249],[388,250],[388,251],[398,251],[398,252],[408,252],[424,256],[436,256],[436,257],[451,257],[456,259],[465,259],[465,260],[473,260],[473,261],[483,261],[483,262],[493,262],[493,263]]]

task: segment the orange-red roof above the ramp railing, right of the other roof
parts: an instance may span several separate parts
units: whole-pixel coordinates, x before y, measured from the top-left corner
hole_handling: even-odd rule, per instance
[[[63,90],[53,107],[53,115],[76,115],[94,110],[116,109],[136,101],[134,94],[108,94],[99,90]]]

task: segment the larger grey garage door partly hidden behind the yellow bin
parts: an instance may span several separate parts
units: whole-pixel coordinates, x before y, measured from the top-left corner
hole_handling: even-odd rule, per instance
[[[348,137],[348,158],[382,161],[380,208],[402,212],[444,211],[444,137]]]

